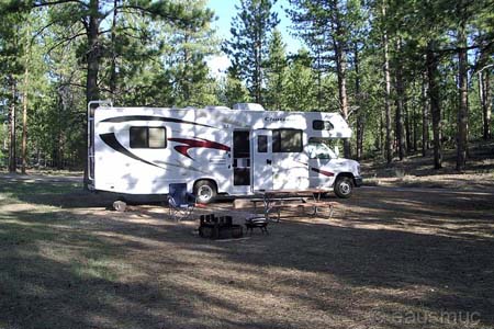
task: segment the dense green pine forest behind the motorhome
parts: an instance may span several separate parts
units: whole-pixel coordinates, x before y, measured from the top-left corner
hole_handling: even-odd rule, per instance
[[[87,102],[339,112],[345,156],[457,149],[492,138],[494,0],[239,0],[222,41],[204,0],[0,2],[0,166],[83,168]],[[206,60],[227,54],[224,76]]]

